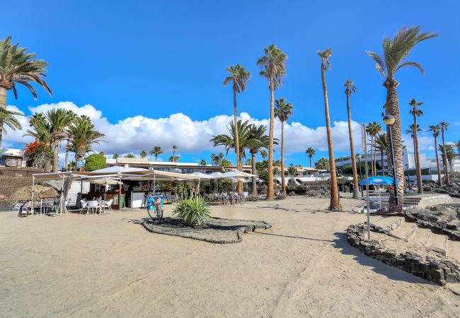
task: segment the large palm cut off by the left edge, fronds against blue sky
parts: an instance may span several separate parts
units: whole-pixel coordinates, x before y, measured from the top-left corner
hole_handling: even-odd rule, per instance
[[[37,54],[28,53],[26,47],[11,45],[11,37],[0,40],[0,109],[6,110],[6,91],[13,90],[14,98],[18,99],[16,84],[27,87],[33,97],[37,99],[37,93],[30,83],[37,83],[52,92],[43,78],[45,77],[48,64],[42,59],[35,59]],[[12,114],[14,116],[14,114]],[[0,148],[3,136],[3,124],[0,122]]]

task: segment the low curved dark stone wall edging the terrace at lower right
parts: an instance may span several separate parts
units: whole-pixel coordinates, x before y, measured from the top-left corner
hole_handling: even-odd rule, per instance
[[[371,228],[375,232],[385,234],[388,232],[374,225]],[[393,249],[386,249],[384,245],[376,240],[365,240],[364,234],[366,229],[367,225],[364,223],[350,225],[347,228],[347,241],[352,247],[356,247],[368,257],[378,259],[385,264],[397,267],[439,285],[460,283],[459,266],[456,266],[451,261],[422,257],[413,252],[398,254]]]

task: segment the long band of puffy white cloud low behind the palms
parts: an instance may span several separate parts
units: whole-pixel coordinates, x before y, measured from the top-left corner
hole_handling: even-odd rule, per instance
[[[226,134],[226,126],[233,116],[218,115],[207,120],[192,120],[185,114],[171,114],[166,118],[153,119],[144,116],[127,117],[116,123],[110,123],[103,112],[96,110],[92,105],[79,107],[73,102],[57,102],[29,107],[30,114],[46,112],[54,107],[73,110],[76,114],[90,117],[96,128],[105,134],[106,143],[95,146],[97,151],[105,153],[139,153],[149,150],[153,146],[163,147],[165,153],[171,153],[172,146],[176,145],[180,153],[200,153],[201,151],[216,151],[209,142],[212,136]],[[16,110],[15,106],[8,106],[8,110]],[[8,131],[5,136],[6,143],[30,142],[30,137],[23,138],[28,129],[27,117],[18,117],[23,125],[21,131]],[[255,124],[268,124],[268,119],[255,119],[250,114],[242,112],[240,118]],[[281,139],[281,124],[275,120],[275,137]],[[352,122],[355,147],[361,148],[360,124]],[[333,142],[335,151],[350,151],[347,122],[333,122]],[[312,147],[319,151],[327,151],[326,127],[309,127],[300,122],[284,124],[284,151],[290,153],[303,153],[306,148]],[[279,151],[280,146],[275,148]]]

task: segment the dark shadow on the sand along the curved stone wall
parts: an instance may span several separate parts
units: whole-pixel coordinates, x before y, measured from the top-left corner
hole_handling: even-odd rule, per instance
[[[335,232],[334,235],[337,238],[333,240],[333,247],[339,249],[340,252],[344,255],[351,255],[353,259],[355,259],[355,261],[357,261],[360,265],[369,267],[375,273],[386,276],[392,281],[406,281],[408,283],[421,283],[426,285],[437,286],[435,283],[425,281],[425,279],[414,276],[411,273],[407,273],[402,269],[389,266],[387,264],[382,263],[381,261],[373,259],[372,257],[367,257],[366,255],[362,254],[362,252],[360,252],[358,249],[355,249],[355,247],[352,247],[348,244],[347,233],[345,232]]]

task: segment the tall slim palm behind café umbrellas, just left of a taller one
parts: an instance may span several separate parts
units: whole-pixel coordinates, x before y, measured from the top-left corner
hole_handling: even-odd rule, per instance
[[[232,88],[234,92],[234,122],[237,122],[238,110],[236,107],[236,93],[241,93],[246,90],[246,83],[249,81],[249,77],[251,77],[251,73],[244,69],[244,66],[240,64],[236,64],[235,66],[229,66],[226,68],[229,71],[230,76],[227,76],[224,79],[224,86],[227,86],[230,82],[232,83]],[[238,125],[235,126],[235,129],[238,130]],[[239,154],[239,140],[238,140],[238,131],[235,133],[235,144],[236,144],[236,169],[241,171],[241,161],[240,161],[240,154]],[[238,180],[238,194],[243,192],[243,182]]]

